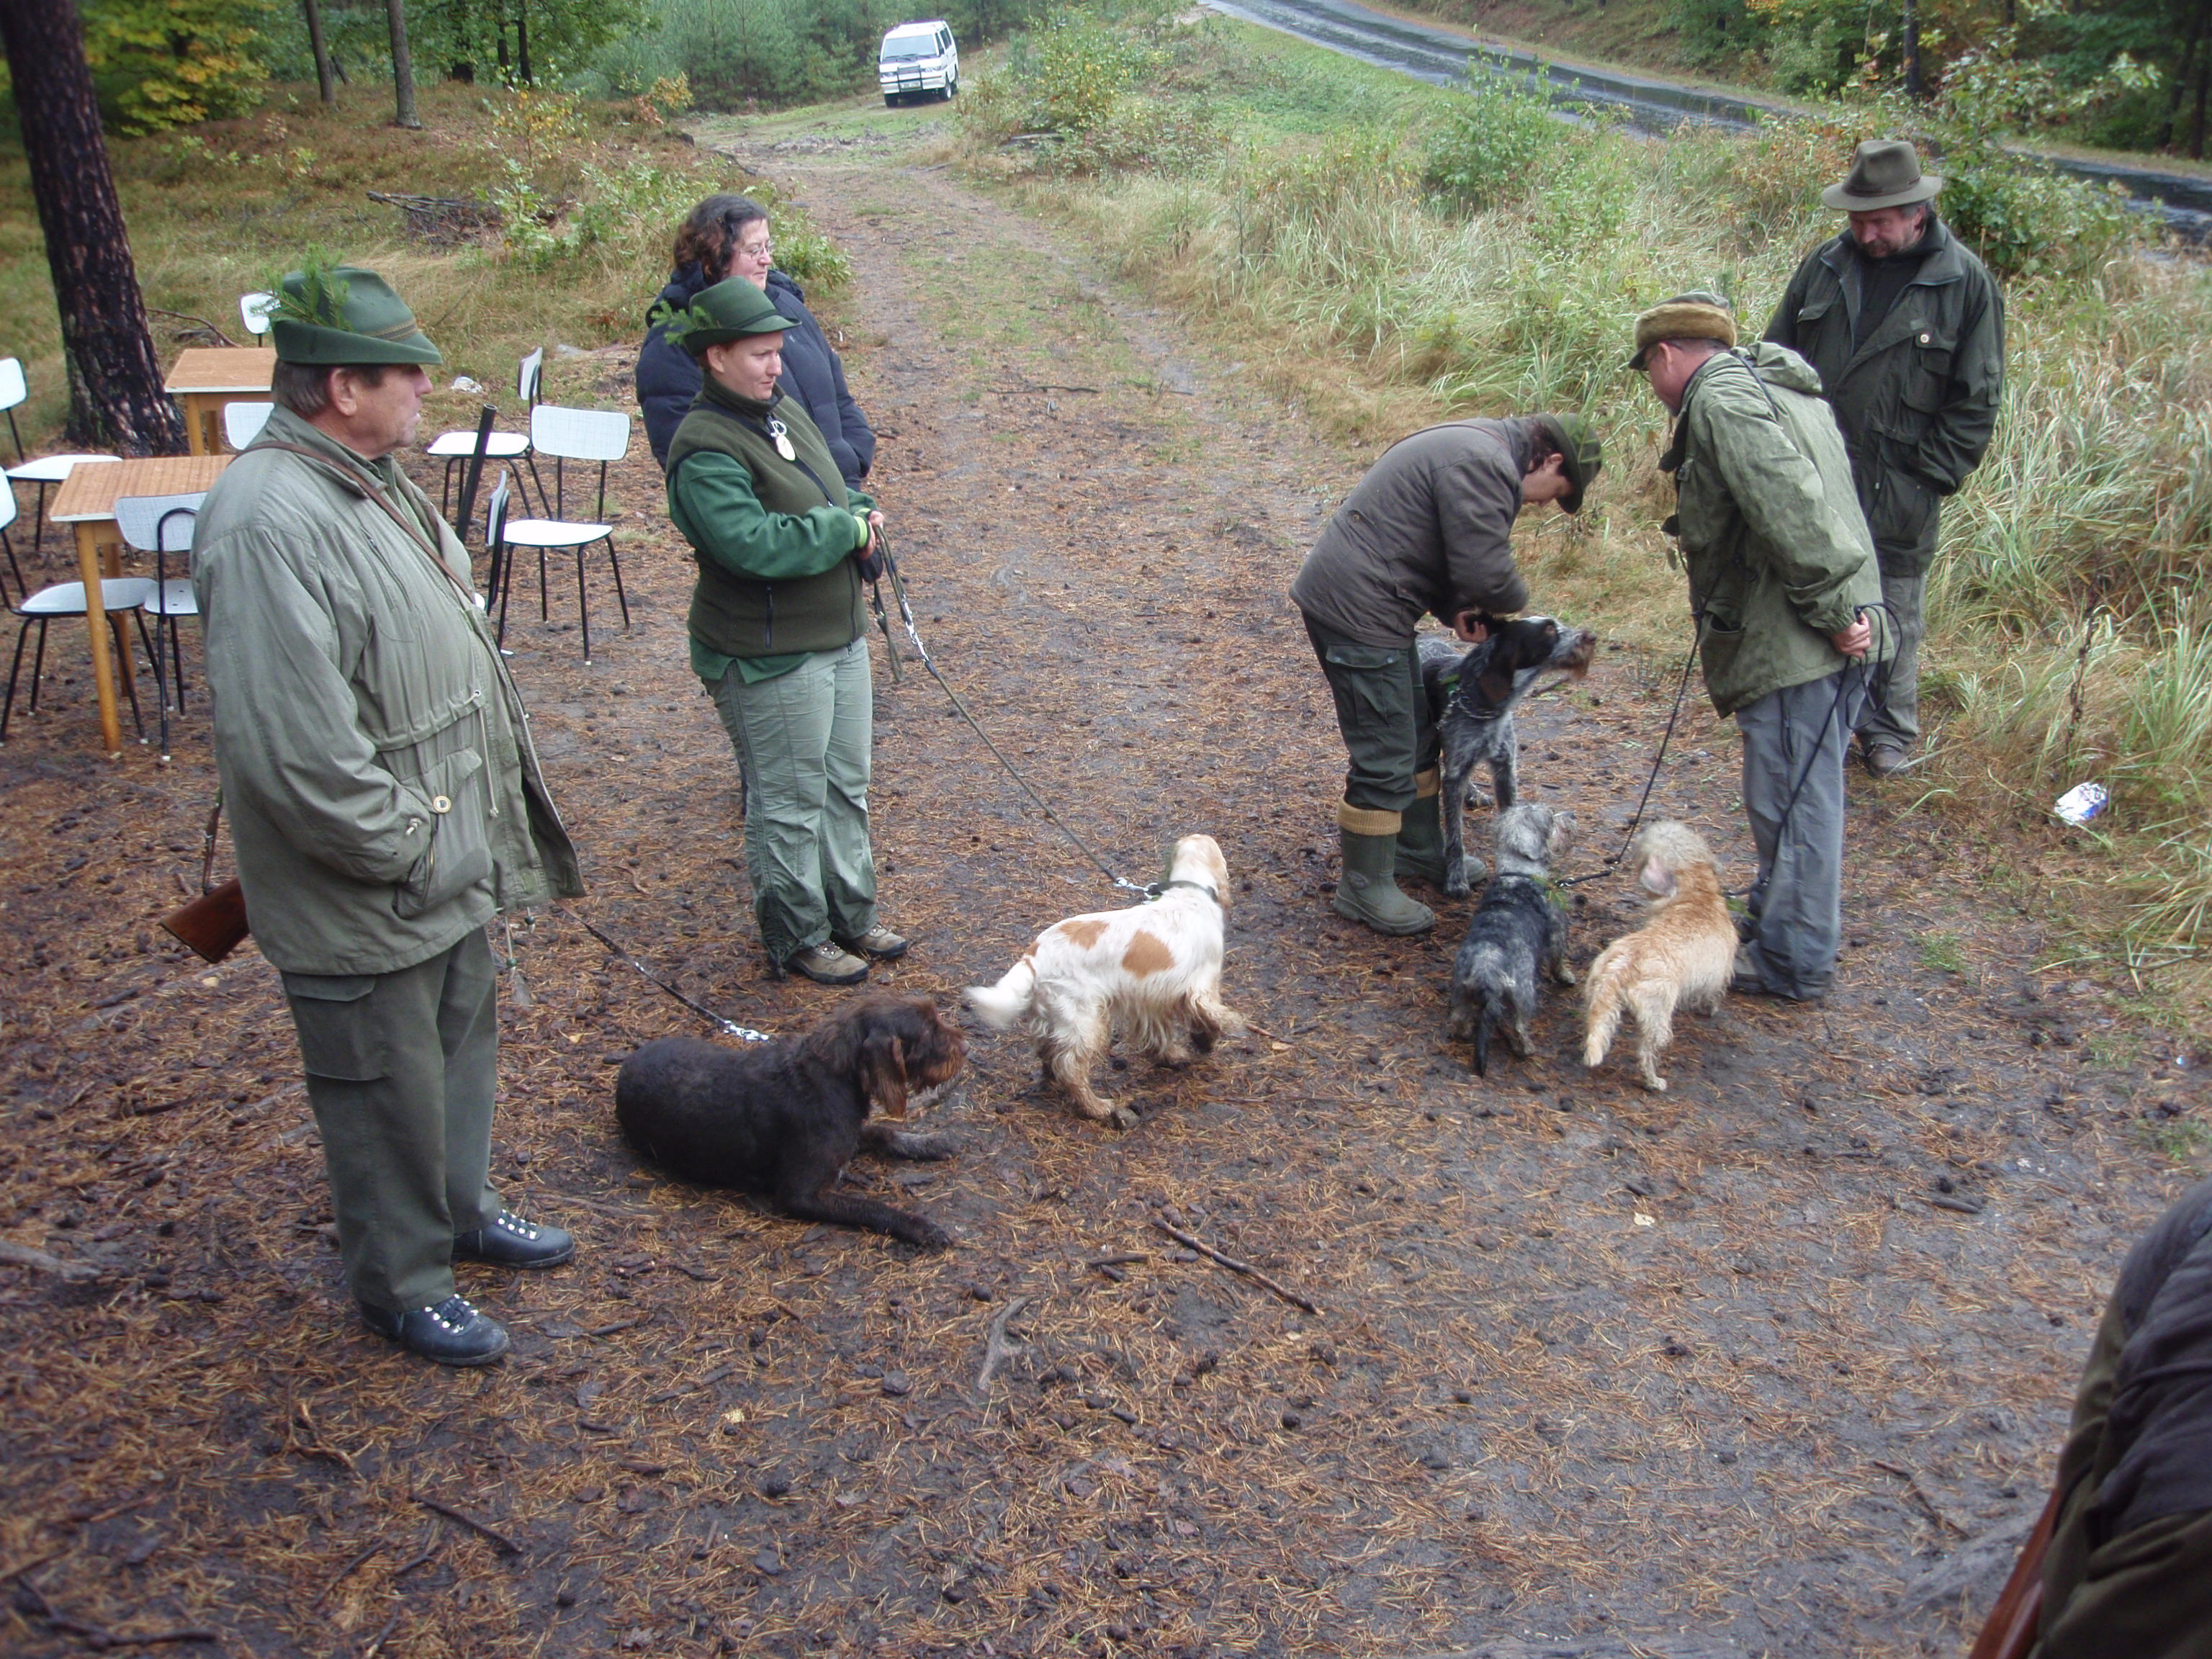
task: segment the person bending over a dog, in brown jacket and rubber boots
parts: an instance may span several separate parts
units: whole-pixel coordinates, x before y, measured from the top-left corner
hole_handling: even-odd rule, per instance
[[[1582,511],[1604,453],[1584,416],[1447,420],[1367,471],[1298,568],[1290,597],[1336,697],[1352,765],[1336,810],[1345,874],[1334,909],[1378,933],[1427,933],[1436,911],[1398,878],[1444,885],[1436,723],[1413,628],[1433,615],[1482,644],[1484,615],[1528,604],[1513,566],[1522,507]]]

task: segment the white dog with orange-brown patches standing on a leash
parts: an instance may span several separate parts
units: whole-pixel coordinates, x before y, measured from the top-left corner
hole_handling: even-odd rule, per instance
[[[1243,1018],[1221,1004],[1228,878],[1212,836],[1183,836],[1159,898],[1053,922],[998,984],[971,984],[964,1000],[998,1031],[1022,1026],[1084,1117],[1126,1128],[1135,1119],[1091,1088],[1117,1026],[1168,1064],[1243,1035]]]

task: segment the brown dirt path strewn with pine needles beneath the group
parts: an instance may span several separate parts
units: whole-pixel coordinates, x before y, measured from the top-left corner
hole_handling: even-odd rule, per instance
[[[745,153],[852,252],[834,310],[925,637],[1002,748],[1139,880],[1232,867],[1228,1000],[1186,1073],[1075,1121],[975,1033],[964,1150],[852,1179],[958,1232],[918,1256],[641,1168],[613,1064],[699,1022],[571,916],[518,929],[495,1179],[575,1267],[462,1287],[515,1354],[365,1336],[272,971],[155,931],[197,865],[179,761],[95,761],[62,666],[0,750],[4,1646],[204,1628],[237,1655],[1911,1655],[1958,1650],[2037,1513],[2119,1254],[2197,1104],[2112,991],[2035,971],[2039,902],[1854,781],[1851,949],[1820,1009],[1686,1020],[1674,1088],[1586,1075],[1573,1009],[1482,1084],[1431,940],[1334,920],[1340,754],[1283,597],[1358,458],[1104,283],[1071,241],[896,150]],[[555,363],[622,407],[628,356]],[[734,770],[686,675],[688,564],[635,445],[635,626],[593,582],[511,644],[593,894],[575,909],[730,1018],[765,978]],[[1577,617],[1557,529],[1540,599]],[[1610,845],[1672,664],[1601,653],[1524,774]],[[1747,856],[1730,728],[1683,717],[1657,807]],[[878,650],[878,975],[942,1000],[1113,902],[911,659]],[[2017,852],[2017,849],[2015,849]],[[1630,922],[1584,889],[1575,958]],[[1305,1314],[1177,1250],[1199,1237]],[[1106,1261],[1113,1259],[1113,1261]],[[1000,1343],[993,1349],[993,1332]],[[458,1520],[469,1517],[469,1520]],[[186,1648],[190,1650],[190,1648]]]

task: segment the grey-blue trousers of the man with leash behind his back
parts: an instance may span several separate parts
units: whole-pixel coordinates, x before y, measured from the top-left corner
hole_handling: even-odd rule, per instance
[[[1812,1000],[1825,995],[1836,978],[1843,947],[1843,763],[1863,703],[1865,668],[1851,666],[1736,710],[1743,810],[1759,847],[1750,953],[1776,995]]]

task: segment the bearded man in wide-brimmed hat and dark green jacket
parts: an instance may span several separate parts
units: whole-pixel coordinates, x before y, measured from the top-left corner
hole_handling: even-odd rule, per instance
[[[1882,564],[1882,602],[1898,619],[1887,695],[1858,730],[1876,776],[1896,772],[1920,739],[1936,520],[1982,462],[2004,392],[2004,296],[1936,217],[1940,190],[1911,144],[1860,144],[1849,177],[1820,192],[1849,226],[1805,257],[1765,334],[1820,374]]]

